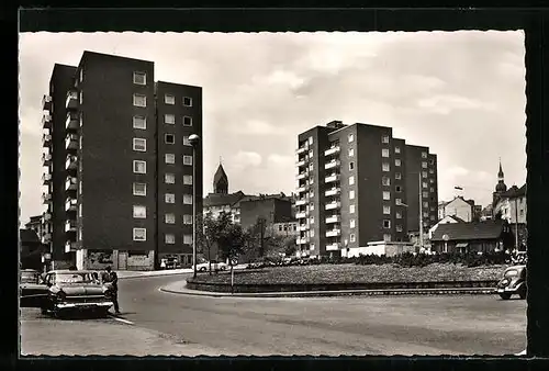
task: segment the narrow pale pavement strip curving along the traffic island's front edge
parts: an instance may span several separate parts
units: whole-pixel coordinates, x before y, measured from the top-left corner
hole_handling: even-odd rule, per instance
[[[187,281],[170,283],[160,291],[170,294],[213,296],[213,297],[311,297],[311,296],[348,296],[348,295],[479,295],[494,294],[493,288],[457,288],[457,289],[388,289],[388,290],[340,290],[340,291],[304,291],[304,292],[260,292],[260,293],[224,293],[187,289]]]

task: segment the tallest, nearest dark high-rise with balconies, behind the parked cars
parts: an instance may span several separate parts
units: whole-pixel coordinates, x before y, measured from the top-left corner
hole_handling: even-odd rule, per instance
[[[189,136],[202,134],[202,88],[154,72],[153,61],[91,52],[55,65],[43,99],[48,268],[191,263],[202,146],[193,158]]]

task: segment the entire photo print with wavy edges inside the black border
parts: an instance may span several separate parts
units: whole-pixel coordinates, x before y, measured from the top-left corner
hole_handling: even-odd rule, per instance
[[[21,33],[21,355],[525,355],[525,53]]]

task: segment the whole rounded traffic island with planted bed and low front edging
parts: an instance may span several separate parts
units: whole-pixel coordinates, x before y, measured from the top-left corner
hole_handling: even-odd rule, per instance
[[[397,265],[321,265],[272,267],[217,276],[200,274],[164,291],[238,296],[327,296],[389,294],[492,294],[506,266],[464,267],[434,263],[402,268]],[[233,284],[232,284],[233,282]],[[215,295],[215,296],[217,296]]]

